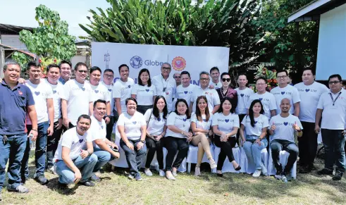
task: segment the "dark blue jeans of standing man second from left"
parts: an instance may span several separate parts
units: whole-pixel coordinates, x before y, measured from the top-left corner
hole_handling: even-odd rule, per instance
[[[46,145],[47,145],[47,129],[49,127],[49,122],[39,123],[38,135],[36,139],[35,148],[35,166],[36,173],[35,177],[39,175],[44,175],[44,168],[46,168]],[[32,125],[27,125],[27,133],[30,133]],[[20,169],[22,181],[25,182],[29,178],[29,155],[30,155],[30,139],[27,138],[27,145],[23,156],[22,168]]]

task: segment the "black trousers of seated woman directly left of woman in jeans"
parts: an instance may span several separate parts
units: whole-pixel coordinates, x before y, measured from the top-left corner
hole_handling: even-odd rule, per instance
[[[222,170],[223,163],[225,162],[226,156],[228,157],[228,160],[230,162],[234,161],[233,156],[233,150],[232,148],[235,147],[235,140],[236,137],[228,137],[227,142],[221,142],[219,135],[214,135],[214,144],[216,147],[220,147],[221,151],[220,154],[218,154],[218,167],[216,170]]]

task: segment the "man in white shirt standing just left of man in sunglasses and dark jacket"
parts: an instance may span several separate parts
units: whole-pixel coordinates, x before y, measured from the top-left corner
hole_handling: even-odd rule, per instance
[[[214,114],[218,111],[218,108],[220,108],[220,98],[218,97],[218,92],[216,92],[216,89],[209,88],[209,81],[209,73],[205,71],[199,73],[200,87],[197,87],[197,89],[195,89],[192,93],[190,101],[190,112],[196,111],[195,102],[197,101],[197,98],[202,95],[204,95],[208,100],[208,108],[210,113]]]

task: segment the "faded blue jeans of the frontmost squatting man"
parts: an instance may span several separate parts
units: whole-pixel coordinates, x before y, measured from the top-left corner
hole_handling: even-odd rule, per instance
[[[80,182],[86,182],[92,175],[92,170],[94,170],[94,166],[97,163],[97,156],[92,154],[85,157],[85,159],[82,159],[82,156],[78,156],[78,158],[73,159],[73,163],[75,163],[75,166],[82,174]],[[59,175],[59,182],[63,184],[72,184],[73,180],[75,180],[75,173],[66,166],[63,160],[56,162],[56,173]]]

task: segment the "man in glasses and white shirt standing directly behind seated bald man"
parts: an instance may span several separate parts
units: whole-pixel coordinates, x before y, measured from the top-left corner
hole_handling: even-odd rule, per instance
[[[297,88],[293,87],[292,85],[288,85],[287,70],[278,70],[278,72],[276,73],[276,79],[278,79],[279,86],[271,89],[271,94],[274,95],[276,99],[276,106],[278,106],[278,108],[276,109],[276,114],[280,114],[280,101],[284,98],[287,98],[290,99],[291,105],[293,105],[290,108],[290,114],[299,116],[299,92]]]

